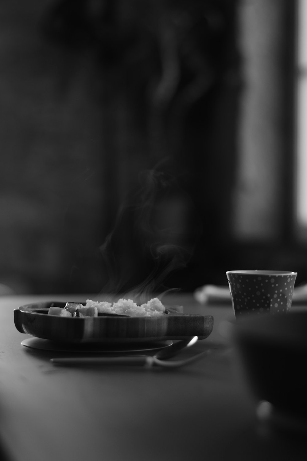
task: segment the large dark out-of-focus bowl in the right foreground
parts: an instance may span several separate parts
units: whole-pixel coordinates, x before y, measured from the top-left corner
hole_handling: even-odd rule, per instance
[[[232,339],[255,397],[307,417],[307,312],[232,322]]]

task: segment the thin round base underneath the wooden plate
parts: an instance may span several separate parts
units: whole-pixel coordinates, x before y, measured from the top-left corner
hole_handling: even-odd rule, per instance
[[[22,345],[31,349],[50,350],[57,352],[77,352],[80,354],[131,354],[138,352],[149,352],[164,349],[173,342],[155,341],[151,343],[56,343],[49,339],[27,338],[22,341]]]

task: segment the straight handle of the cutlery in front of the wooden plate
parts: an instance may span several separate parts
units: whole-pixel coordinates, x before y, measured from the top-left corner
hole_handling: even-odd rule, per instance
[[[151,356],[135,357],[58,357],[50,359],[54,365],[141,365],[150,367],[154,363]]]

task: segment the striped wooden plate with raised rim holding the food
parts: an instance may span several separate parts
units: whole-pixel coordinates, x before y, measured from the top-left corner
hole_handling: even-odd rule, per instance
[[[168,309],[159,317],[128,317],[98,314],[98,317],[48,315],[52,306],[66,302],[26,304],[14,310],[18,331],[35,337],[68,343],[129,343],[208,337],[213,329],[211,315],[178,313]]]

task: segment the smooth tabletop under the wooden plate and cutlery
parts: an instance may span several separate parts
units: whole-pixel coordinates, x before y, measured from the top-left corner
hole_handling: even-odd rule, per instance
[[[302,440],[255,418],[235,352],[220,334],[231,305],[203,306],[190,295],[171,300],[185,313],[214,316],[211,335],[186,352],[211,353],[184,368],[56,367],[54,352],[21,345],[29,336],[16,330],[13,309],[71,298],[0,298],[0,442],[9,460],[306,459]]]

